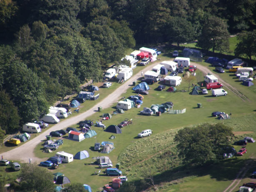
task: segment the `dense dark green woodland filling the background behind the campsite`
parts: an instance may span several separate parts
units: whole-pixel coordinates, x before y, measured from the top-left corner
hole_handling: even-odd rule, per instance
[[[230,34],[242,32],[236,55],[251,59],[256,1],[0,0],[0,29],[3,137],[85,80],[101,80],[136,43],[198,40],[198,47],[222,52]]]

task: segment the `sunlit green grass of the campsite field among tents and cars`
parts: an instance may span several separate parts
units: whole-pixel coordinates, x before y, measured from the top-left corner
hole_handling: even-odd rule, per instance
[[[204,63],[203,65],[207,66],[208,64]],[[138,69],[138,71],[140,70],[139,67],[136,69]],[[248,87],[239,87],[237,82],[232,82],[233,78],[228,74],[221,74],[221,78],[225,79],[230,84],[234,83],[233,85],[237,86],[237,88],[243,91],[249,98],[252,98],[253,95],[255,96],[255,93],[248,89]],[[201,81],[203,79],[203,74],[200,71],[197,71],[196,79],[195,81]],[[158,84],[150,85],[151,90],[149,90],[149,95],[144,97],[141,108],[133,108],[125,111],[125,114],[113,115],[110,120],[103,121],[108,127],[108,125],[118,125],[125,118],[133,119],[131,125],[122,128],[122,134],[116,135],[104,132],[102,128],[93,127],[92,129],[97,132],[96,137],[85,139],[82,142],[64,139],[64,145],[60,146],[57,151],[64,150],[65,152],[75,155],[76,152],[80,150],[87,150],[90,157],[85,160],[74,160],[74,162],[69,164],[62,164],[58,172],[63,172],[65,176],[69,177],[71,182],[75,181],[88,184],[94,191],[99,190],[99,187],[108,184],[114,177],[107,177],[102,172],[100,176],[94,175],[95,170],[98,171],[100,169],[98,169],[97,165],[91,165],[94,161],[92,157],[105,156],[106,154],[94,152],[92,151],[92,147],[95,142],[111,141],[114,142],[115,149],[106,156],[110,157],[113,165],[116,163],[120,164],[120,170],[123,171],[123,175],[128,176],[129,181],[134,181],[135,183],[141,182],[140,180],[143,175],[145,175],[146,170],[148,170],[148,167],[151,167],[154,171],[153,173],[156,174],[156,181],[158,176],[160,178],[169,178],[168,180],[159,182],[161,191],[186,191],[188,187],[194,189],[194,191],[198,191],[202,189],[202,186],[211,188],[211,191],[223,191],[236,177],[236,173],[243,166],[243,161],[245,161],[252,152],[255,153],[253,147],[250,147],[251,149],[248,148],[250,150],[248,150],[248,153],[243,157],[223,161],[218,165],[214,165],[221,169],[223,169],[225,165],[225,169],[220,175],[216,172],[216,167],[211,167],[209,170],[202,167],[201,170],[187,171],[184,170],[184,167],[180,167],[181,161],[176,156],[173,135],[177,129],[184,126],[192,126],[202,122],[219,122],[216,117],[211,117],[211,112],[213,111],[223,111],[228,114],[232,113],[231,120],[223,121],[223,123],[228,123],[235,131],[254,132],[254,128],[249,125],[255,125],[255,101],[244,102],[232,92],[228,92],[226,97],[212,97],[210,91],[208,95],[190,95],[191,87],[190,92],[184,92],[184,90],[188,90],[188,82],[184,80],[181,86],[177,87],[175,93],[166,92],[166,90],[162,92],[156,91],[154,89],[157,86]],[[131,88],[132,87],[133,86],[131,86]],[[128,97],[133,94],[134,92],[128,89],[123,96]],[[152,104],[161,104],[166,101],[172,101],[174,103],[174,110],[186,108],[186,113],[179,115],[165,113],[161,116],[139,115],[143,107],[150,107]],[[202,103],[203,108],[197,108],[197,103]],[[103,112],[95,113],[89,119],[95,122],[100,119],[100,115],[103,113],[113,114],[115,105],[116,104],[103,110]],[[243,122],[248,123],[243,126]],[[73,127],[76,126],[77,125],[74,125]],[[153,130],[153,135],[138,139],[136,137],[137,134],[144,129]],[[116,138],[110,140],[109,137],[111,135],[115,135]],[[250,135],[253,136],[254,133]],[[239,136],[238,139],[240,139],[240,137],[242,138],[243,135]],[[43,153],[41,147],[42,146],[38,145],[35,148],[34,152],[37,157],[46,160],[48,157],[53,156],[53,154]],[[174,167],[174,170],[169,171],[169,169]],[[189,174],[187,172],[189,172]],[[173,177],[170,177],[170,175]],[[174,185],[178,183],[180,184]]]

